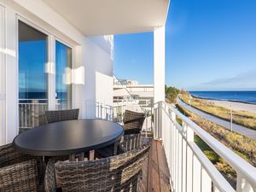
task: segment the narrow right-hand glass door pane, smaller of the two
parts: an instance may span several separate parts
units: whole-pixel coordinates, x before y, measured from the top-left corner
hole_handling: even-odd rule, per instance
[[[56,109],[72,108],[72,49],[55,42]]]

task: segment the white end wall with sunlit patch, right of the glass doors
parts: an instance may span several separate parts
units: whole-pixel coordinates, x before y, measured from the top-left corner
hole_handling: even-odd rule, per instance
[[[86,38],[85,42],[85,118],[96,117],[96,102],[113,104],[113,59],[110,52],[99,47],[99,42],[95,44],[94,40],[95,38]],[[110,44],[109,49],[112,46]]]

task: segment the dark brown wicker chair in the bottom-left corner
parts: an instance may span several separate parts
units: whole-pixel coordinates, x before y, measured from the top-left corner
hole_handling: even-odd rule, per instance
[[[12,144],[0,147],[0,191],[44,191],[43,164],[31,155],[21,154]]]

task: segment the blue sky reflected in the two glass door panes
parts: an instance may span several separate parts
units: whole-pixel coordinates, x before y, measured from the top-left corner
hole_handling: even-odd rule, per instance
[[[47,43],[44,40],[19,42],[20,92],[47,92],[47,76],[44,65],[47,61]],[[67,46],[56,41],[56,91],[67,91],[63,73],[68,66]],[[69,48],[70,49],[70,48]]]

